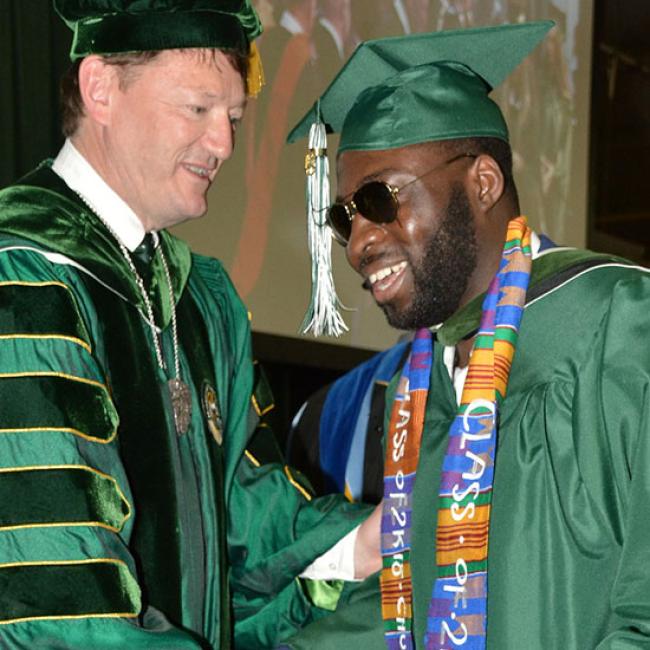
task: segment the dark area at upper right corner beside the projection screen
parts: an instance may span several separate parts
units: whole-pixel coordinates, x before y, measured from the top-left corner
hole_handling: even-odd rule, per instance
[[[587,241],[648,265],[650,3],[595,5]]]

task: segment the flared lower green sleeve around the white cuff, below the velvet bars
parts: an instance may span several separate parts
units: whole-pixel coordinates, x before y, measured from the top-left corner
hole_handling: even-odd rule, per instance
[[[273,648],[325,613],[296,576],[361,523],[369,508],[339,495],[308,496],[288,467],[257,466],[248,455],[242,460],[229,503],[237,648]]]

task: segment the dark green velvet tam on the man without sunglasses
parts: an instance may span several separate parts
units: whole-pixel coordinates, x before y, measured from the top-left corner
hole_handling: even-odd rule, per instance
[[[70,58],[190,47],[247,54],[262,26],[250,0],[54,0]]]

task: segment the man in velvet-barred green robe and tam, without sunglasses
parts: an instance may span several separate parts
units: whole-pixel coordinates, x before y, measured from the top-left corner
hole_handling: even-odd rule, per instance
[[[0,647],[273,648],[380,560],[377,515],[278,462],[246,310],[165,231],[232,153],[258,17],[55,7],[67,140],[0,192]]]

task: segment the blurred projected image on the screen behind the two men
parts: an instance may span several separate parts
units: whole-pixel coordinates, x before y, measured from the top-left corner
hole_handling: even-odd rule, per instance
[[[591,30],[580,0],[253,1],[264,23],[259,47],[267,85],[250,101],[234,159],[215,184],[219,239],[202,235],[197,247],[224,260],[253,312],[254,327],[294,335],[302,320],[309,297],[305,151],[302,144],[285,145],[285,138],[362,40],[553,19],[556,28],[493,97],[511,128],[522,204],[535,210],[527,216],[536,229],[566,241],[572,212],[584,209],[582,198],[577,208],[571,198],[576,128],[586,129],[576,112],[576,78],[586,63],[576,49],[577,31]],[[365,309],[358,281],[340,266],[335,273],[343,298]],[[280,307],[272,297],[288,287],[292,295],[285,293]]]

